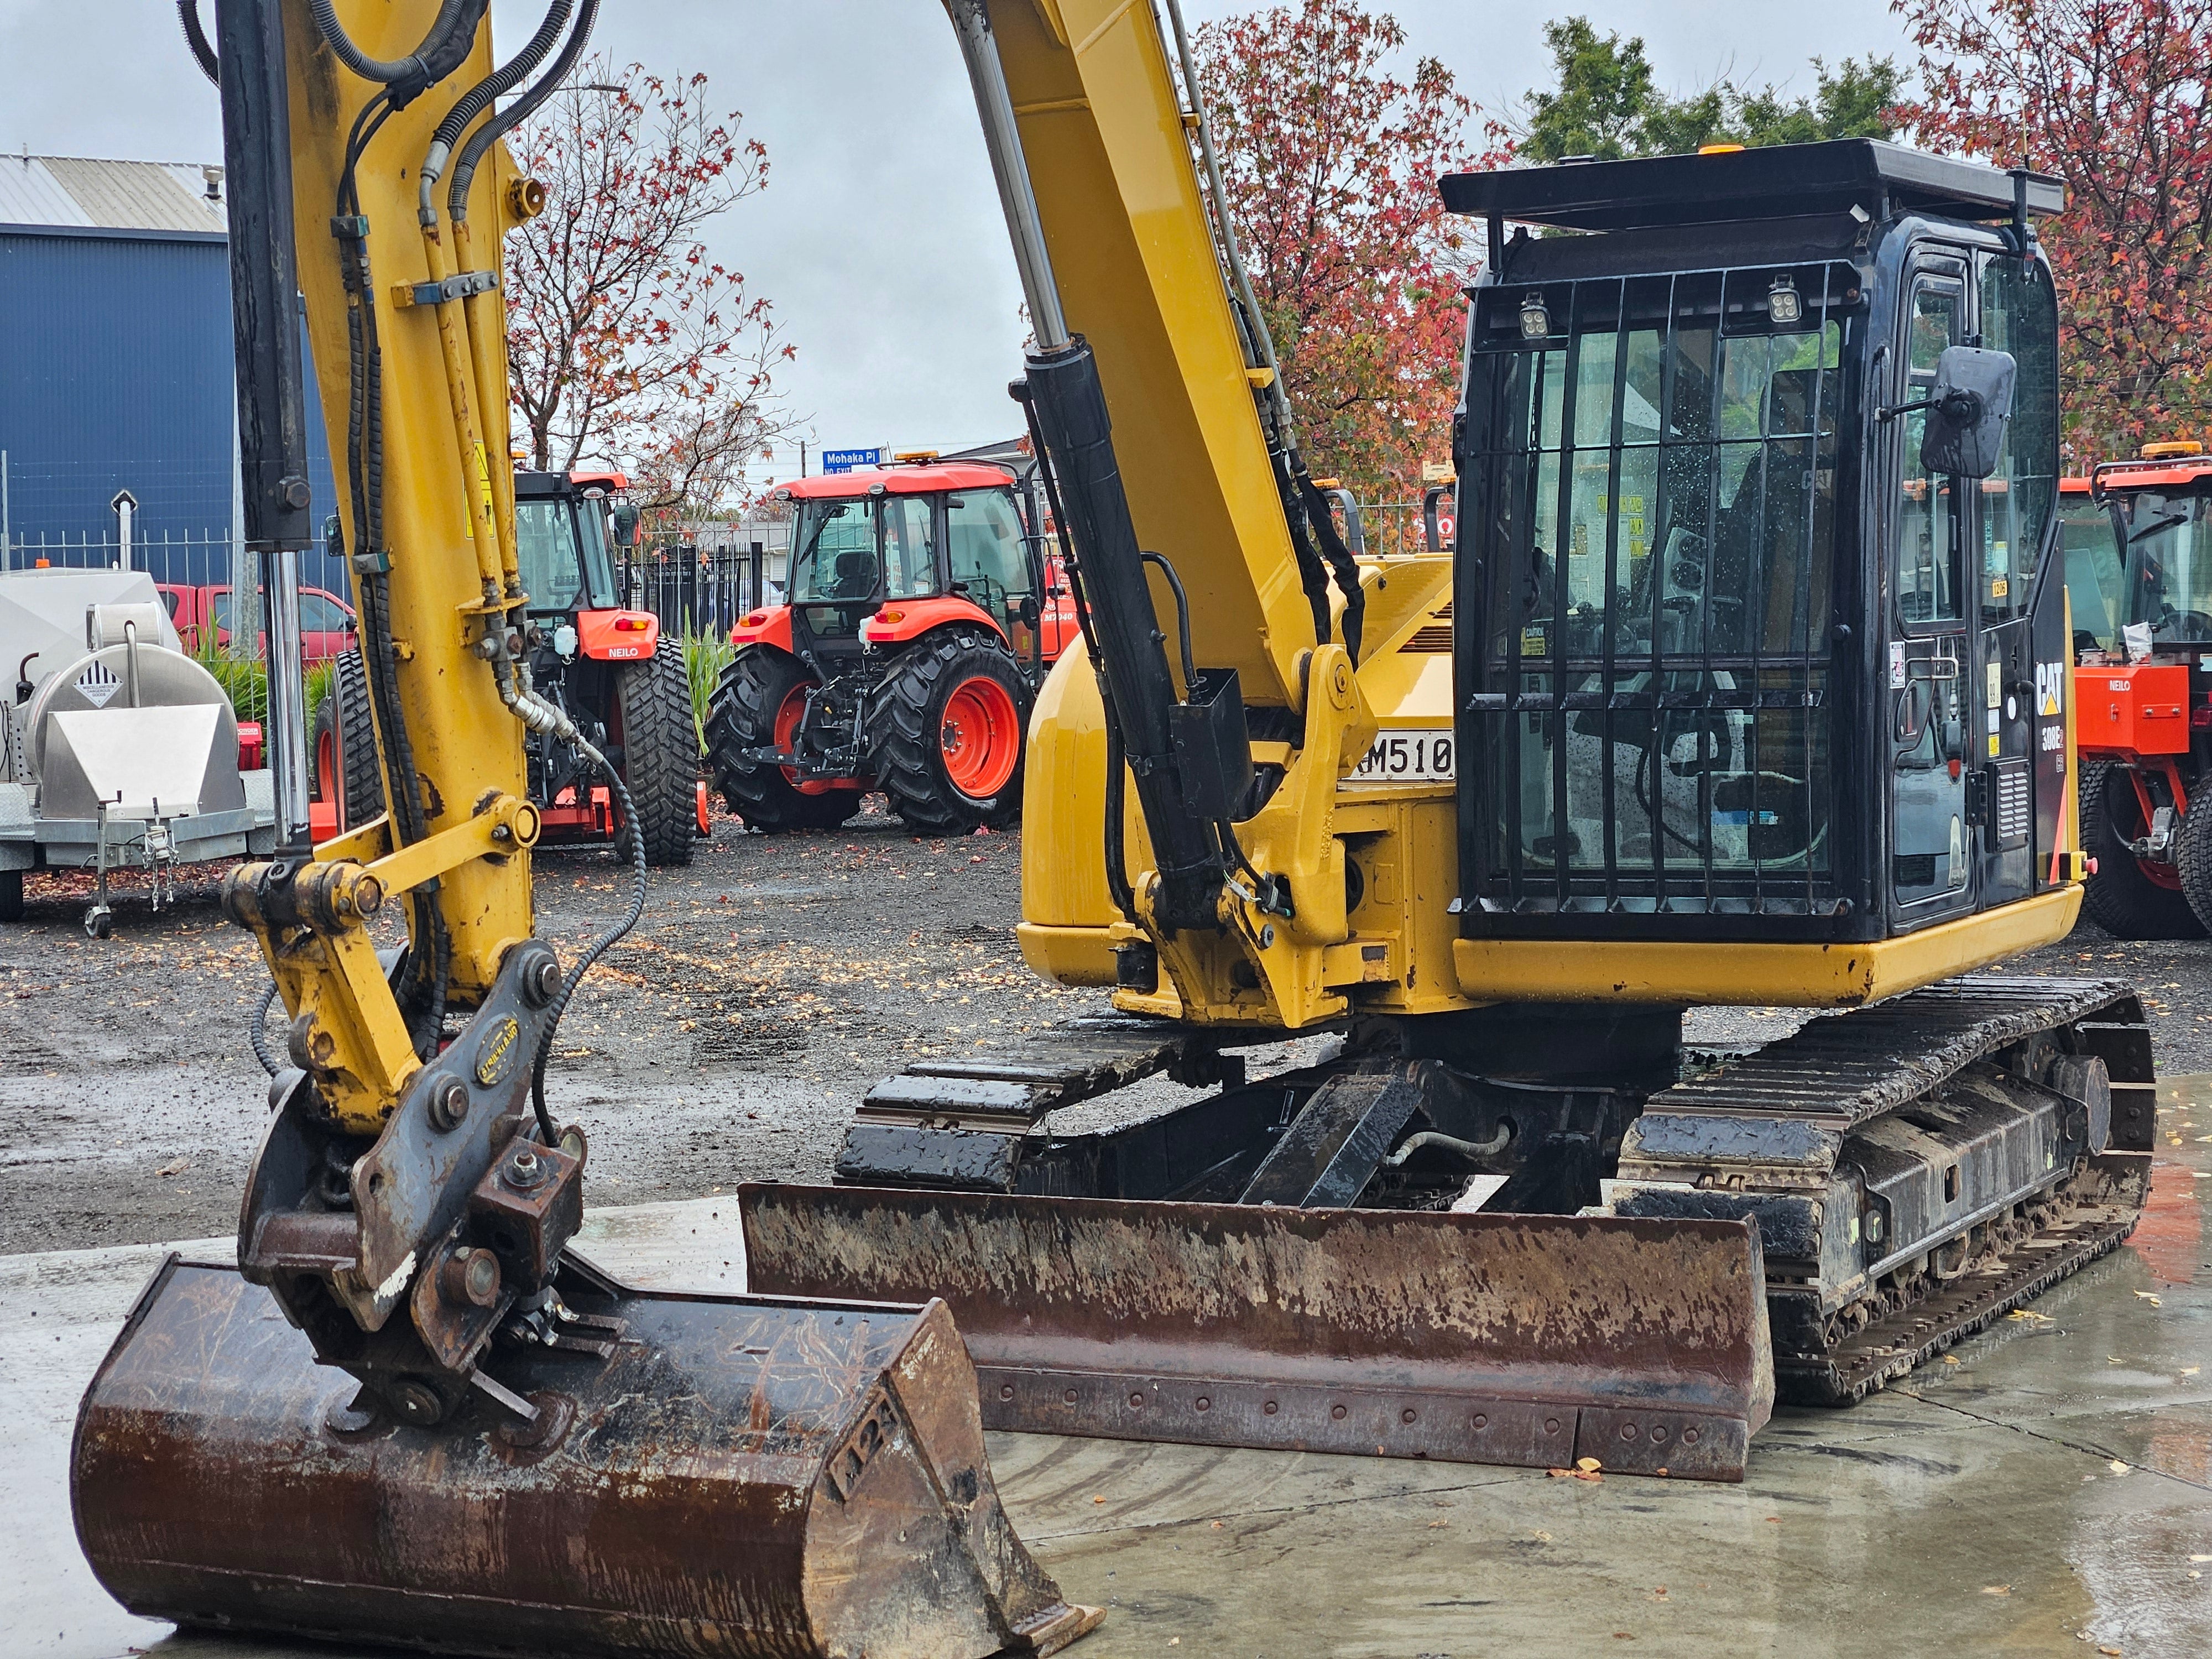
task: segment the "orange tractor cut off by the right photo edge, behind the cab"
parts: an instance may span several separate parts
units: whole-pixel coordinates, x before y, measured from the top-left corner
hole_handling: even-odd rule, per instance
[[[2212,927],[2212,456],[2146,445],[2062,489],[2090,920]]]

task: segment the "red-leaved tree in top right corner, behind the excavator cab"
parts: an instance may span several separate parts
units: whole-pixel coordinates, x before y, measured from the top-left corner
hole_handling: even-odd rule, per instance
[[[2212,0],[1893,0],[1931,148],[2066,179],[2068,458],[2203,434],[2212,367]]]

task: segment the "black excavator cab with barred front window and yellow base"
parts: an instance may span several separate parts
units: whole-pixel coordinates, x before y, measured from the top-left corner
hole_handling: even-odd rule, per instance
[[[2059,186],[1847,142],[1444,195],[1599,232],[1473,292],[1462,987],[1847,1004],[2062,938]]]

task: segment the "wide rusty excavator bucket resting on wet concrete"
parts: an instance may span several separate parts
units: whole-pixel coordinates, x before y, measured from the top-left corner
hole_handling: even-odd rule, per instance
[[[1097,1624],[1000,1509],[942,1305],[564,1274],[624,1321],[613,1358],[502,1352],[535,1431],[411,1429],[356,1413],[265,1290],[170,1256],[77,1416],[100,1582],[186,1626],[465,1655],[980,1659]]]

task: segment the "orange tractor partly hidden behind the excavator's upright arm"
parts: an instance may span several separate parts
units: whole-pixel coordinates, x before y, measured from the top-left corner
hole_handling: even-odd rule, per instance
[[[515,473],[515,555],[529,606],[529,666],[540,697],[568,712],[622,772],[646,863],[688,865],[708,834],[699,732],[684,650],[650,611],[615,586],[615,553],[637,542],[630,480],[617,471]],[[542,843],[611,843],[622,807],[580,750],[531,734],[529,790]],[[316,830],[358,827],[385,810],[376,774],[369,686],[361,653],[332,661],[314,721]]]

